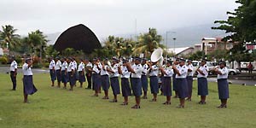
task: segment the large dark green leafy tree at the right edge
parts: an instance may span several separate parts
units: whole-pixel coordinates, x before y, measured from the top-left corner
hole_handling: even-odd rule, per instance
[[[236,0],[240,6],[235,12],[227,12],[228,20],[216,20],[220,24],[212,29],[224,30],[230,35],[224,37],[224,41],[231,39],[235,46],[230,49],[230,61],[249,61],[253,54],[245,49],[245,43],[254,42],[256,39],[256,0]]]

